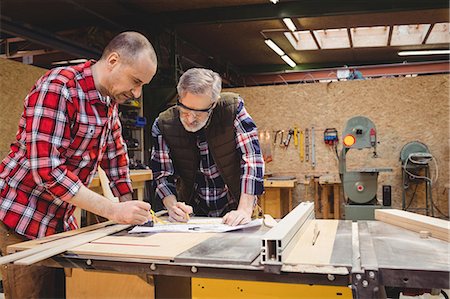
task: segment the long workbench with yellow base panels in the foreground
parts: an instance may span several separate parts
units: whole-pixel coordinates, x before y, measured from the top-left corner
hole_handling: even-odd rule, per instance
[[[297,209],[282,221],[298,218]],[[289,223],[280,222],[273,229],[282,230],[285,224]],[[292,237],[289,250],[286,248],[283,257],[275,258],[272,254],[278,256],[284,245],[277,241],[276,253],[267,255],[265,245],[271,246],[264,238],[273,229],[261,226],[229,233],[137,236],[122,231],[39,264],[67,269],[68,298],[80,295],[82,285],[71,278],[84,273],[90,275],[92,285],[95,271],[102,273],[99,276],[115,273],[133,274],[135,280],[140,277],[135,283],[146,286],[147,293],[133,288],[148,298],[207,298],[212,289],[228,298],[239,298],[231,295],[235,292],[246,298],[311,298],[314,294],[321,298],[351,298],[352,292],[355,298],[384,298],[384,286],[449,288],[449,248],[445,241],[421,239],[417,233],[380,221],[307,218]],[[38,242],[16,244],[8,251],[32,248]],[[268,257],[265,263],[264,255]],[[91,295],[98,294],[99,288],[95,284]],[[114,286],[109,284],[109,288]],[[262,289],[264,296],[260,296]]]

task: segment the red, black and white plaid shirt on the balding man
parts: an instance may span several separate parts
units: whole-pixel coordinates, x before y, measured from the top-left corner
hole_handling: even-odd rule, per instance
[[[132,191],[117,104],[95,89],[93,63],[56,68],[36,82],[0,164],[0,220],[28,238],[77,228],[67,200],[99,164],[115,196]]]

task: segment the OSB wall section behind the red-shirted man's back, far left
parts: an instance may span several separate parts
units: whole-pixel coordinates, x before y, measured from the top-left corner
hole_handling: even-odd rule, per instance
[[[23,112],[23,100],[45,69],[0,58],[0,159],[9,152]]]

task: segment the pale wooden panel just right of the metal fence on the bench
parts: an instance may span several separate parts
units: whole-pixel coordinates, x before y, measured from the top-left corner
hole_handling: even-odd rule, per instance
[[[313,245],[316,224],[319,234]],[[338,220],[312,220],[289,253],[285,264],[329,266],[338,224]]]

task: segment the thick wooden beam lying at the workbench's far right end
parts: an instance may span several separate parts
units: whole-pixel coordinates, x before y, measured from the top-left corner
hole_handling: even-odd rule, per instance
[[[431,236],[450,242],[450,222],[396,209],[376,209],[375,219],[419,233],[429,231]]]

